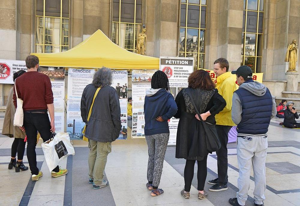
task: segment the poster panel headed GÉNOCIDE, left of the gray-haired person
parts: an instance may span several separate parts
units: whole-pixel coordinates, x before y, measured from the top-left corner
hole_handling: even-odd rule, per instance
[[[68,70],[68,95],[67,95],[67,133],[70,139],[82,139],[82,130],[85,123],[80,113],[80,101],[84,88],[91,84],[95,69]]]

